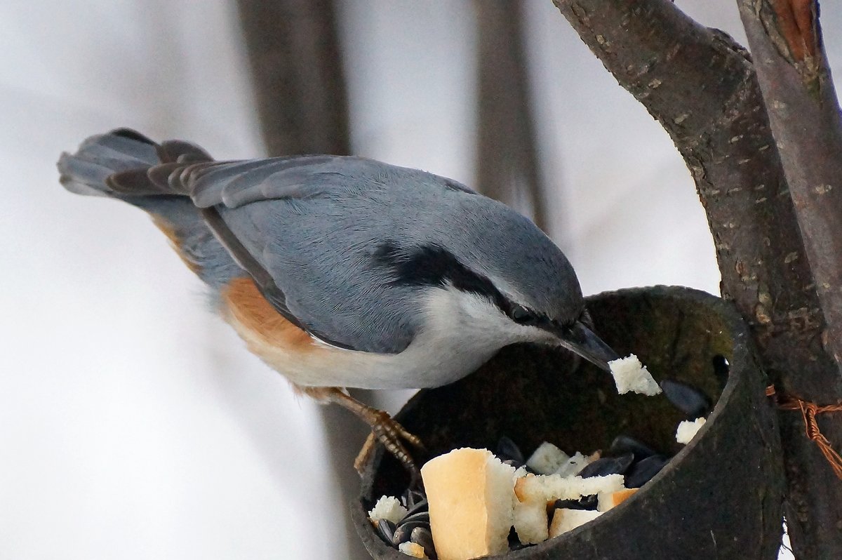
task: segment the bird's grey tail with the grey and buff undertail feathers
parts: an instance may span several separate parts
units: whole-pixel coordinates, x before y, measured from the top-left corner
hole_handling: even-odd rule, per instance
[[[118,129],[91,136],[76,153],[62,153],[57,167],[65,189],[78,195],[106,196],[147,211],[172,241],[184,263],[219,288],[242,269],[210,232],[200,211],[172,177],[180,170],[213,162],[189,142],[158,144],[139,132]]]

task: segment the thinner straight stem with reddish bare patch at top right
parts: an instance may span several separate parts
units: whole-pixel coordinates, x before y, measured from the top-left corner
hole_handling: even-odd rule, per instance
[[[816,0],[738,0],[816,280],[825,344],[842,367],[842,118]]]

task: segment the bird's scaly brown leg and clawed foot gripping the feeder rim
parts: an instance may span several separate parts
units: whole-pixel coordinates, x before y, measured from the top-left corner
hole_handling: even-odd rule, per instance
[[[417,436],[410,434],[401,424],[398,424],[388,413],[372,408],[367,404],[360,403],[354,397],[351,397],[346,392],[338,387],[298,387],[301,392],[316,398],[322,402],[336,403],[343,408],[347,408],[352,413],[362,419],[365,424],[371,426],[371,434],[365,440],[360,454],[354,461],[354,468],[357,472],[362,474],[365,464],[368,462],[372,451],[374,451],[374,444],[376,441],[381,442],[386,447],[386,451],[392,453],[393,456],[401,461],[401,464],[414,477],[418,476],[418,467],[415,466],[412,456],[403,445],[402,440],[417,446],[424,447],[421,440]]]

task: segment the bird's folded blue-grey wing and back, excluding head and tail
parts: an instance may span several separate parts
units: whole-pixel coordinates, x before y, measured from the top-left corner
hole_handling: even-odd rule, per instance
[[[279,312],[326,342],[381,353],[406,348],[422,317],[418,286],[394,282],[378,251],[438,217],[437,197],[475,194],[430,173],[337,156],[201,164],[177,182]]]

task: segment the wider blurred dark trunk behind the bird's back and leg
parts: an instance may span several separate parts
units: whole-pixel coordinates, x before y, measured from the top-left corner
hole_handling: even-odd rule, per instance
[[[333,0],[238,0],[254,95],[270,156],[350,153],[348,101]],[[371,403],[371,395],[354,396]],[[373,403],[376,405],[376,403]],[[333,506],[357,499],[360,483],[354,457],[368,428],[336,406],[319,407],[336,483],[342,493]],[[292,458],[290,457],[290,460]],[[328,489],[328,488],[326,488]],[[328,507],[328,506],[326,506]],[[345,538],[333,536],[348,558],[369,558],[350,515]]]

